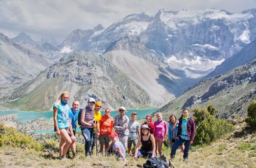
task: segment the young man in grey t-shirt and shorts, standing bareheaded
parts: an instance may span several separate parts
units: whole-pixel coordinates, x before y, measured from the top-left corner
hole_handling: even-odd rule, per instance
[[[136,147],[138,143],[138,137],[140,136],[140,124],[135,121],[137,118],[137,113],[134,112],[131,115],[131,121],[129,121],[128,129],[129,129],[129,135],[127,140],[127,148],[128,148],[128,154],[131,155],[131,149],[132,144],[134,147]]]

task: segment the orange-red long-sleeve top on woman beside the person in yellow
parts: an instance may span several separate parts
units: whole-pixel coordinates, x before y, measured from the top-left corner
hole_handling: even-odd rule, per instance
[[[114,119],[112,117],[101,116],[99,121],[100,135],[109,136],[113,132]]]

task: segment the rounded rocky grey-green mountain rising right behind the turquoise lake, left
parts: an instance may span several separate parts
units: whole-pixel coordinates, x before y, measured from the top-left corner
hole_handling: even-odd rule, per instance
[[[100,55],[72,52],[16,89],[9,99],[17,100],[6,105],[46,110],[62,91],[69,91],[70,101],[79,100],[82,107],[89,97],[101,100],[104,107],[117,108],[121,104],[135,108],[151,104],[148,94],[139,85]]]

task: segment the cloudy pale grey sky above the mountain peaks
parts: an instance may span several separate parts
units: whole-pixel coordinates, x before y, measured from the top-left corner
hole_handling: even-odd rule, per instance
[[[256,8],[256,0],[0,0],[0,32],[9,38],[25,32],[37,41],[54,38],[61,43],[75,29],[106,28],[129,14],[207,8],[237,13]]]

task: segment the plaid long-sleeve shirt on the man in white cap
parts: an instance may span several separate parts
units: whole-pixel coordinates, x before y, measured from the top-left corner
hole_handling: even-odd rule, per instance
[[[114,128],[119,137],[128,136],[129,135],[129,118],[127,116],[121,117],[117,115],[114,119]]]

